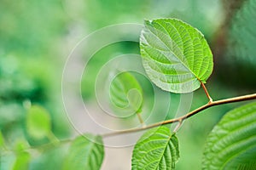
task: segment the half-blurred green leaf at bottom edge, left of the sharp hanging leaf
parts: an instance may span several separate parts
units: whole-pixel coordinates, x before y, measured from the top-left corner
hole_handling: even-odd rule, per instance
[[[73,140],[63,164],[64,170],[100,169],[104,157],[101,136],[85,134]]]

